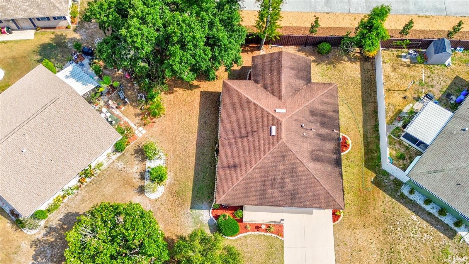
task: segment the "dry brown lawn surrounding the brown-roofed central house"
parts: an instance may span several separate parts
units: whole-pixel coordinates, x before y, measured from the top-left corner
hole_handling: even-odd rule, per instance
[[[280,48],[266,49],[267,52],[277,50]],[[284,50],[309,56],[312,80],[338,83],[339,96],[347,103],[339,99],[340,130],[350,137],[353,147],[342,159],[346,210],[341,222],[334,225],[337,263],[468,261],[468,247],[456,243],[457,238],[447,225],[406,197],[398,196],[402,183],[397,179],[392,180],[384,173],[375,174],[376,159],[367,163],[362,176],[362,134],[373,134],[369,131],[373,128],[363,129],[362,123],[374,119],[363,118],[363,113],[369,115],[366,108],[372,101],[365,97],[362,102],[362,84],[368,71],[361,67],[359,60],[344,57],[336,50],[319,55],[314,47],[284,47]],[[73,226],[77,215],[101,201],[141,203],[153,211],[170,244],[177,235],[195,228],[214,231],[208,209],[213,201],[213,150],[221,82],[226,78],[245,78],[250,57],[257,54],[256,47],[246,47],[242,53],[243,67],[234,68],[229,75],[219,70],[219,78],[213,82],[171,81],[171,89],[164,93],[166,115],[63,204],[38,233],[26,235],[17,230],[1,211],[0,262],[61,263],[63,249],[67,247],[64,232]],[[165,193],[158,200],[150,200],[142,193],[145,165],[141,145],[148,139],[157,140],[167,154],[169,177]],[[376,138],[366,140],[373,141],[366,146],[376,146]],[[365,152],[375,151],[365,149]],[[226,243],[239,248],[246,263],[283,262],[283,242],[277,238],[249,235]]]

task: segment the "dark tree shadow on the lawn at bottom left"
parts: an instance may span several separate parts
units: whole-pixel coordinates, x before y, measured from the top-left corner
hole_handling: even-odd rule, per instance
[[[68,247],[65,232],[73,227],[76,217],[79,215],[77,212],[68,212],[56,223],[46,222],[44,234],[31,242],[30,248],[34,249],[32,263],[62,263],[65,261],[63,251]]]

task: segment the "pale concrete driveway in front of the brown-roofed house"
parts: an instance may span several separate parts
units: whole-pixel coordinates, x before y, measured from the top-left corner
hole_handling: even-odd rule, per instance
[[[285,264],[333,264],[334,233],[331,210],[299,214],[283,211]]]

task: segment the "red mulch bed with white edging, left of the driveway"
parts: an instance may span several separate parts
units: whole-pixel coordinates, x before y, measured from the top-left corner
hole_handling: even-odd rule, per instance
[[[241,209],[242,206],[228,206],[228,208],[222,208],[220,206],[219,209],[212,209],[212,216],[215,218],[215,220],[218,219],[218,217],[222,214],[228,214],[231,217],[238,222],[239,225],[239,234],[243,233],[253,233],[253,232],[262,232],[262,233],[268,233],[267,232],[267,227],[269,227],[270,224],[261,224],[261,223],[243,223],[242,218],[235,218],[234,217],[234,211]],[[248,230],[246,226],[249,225],[250,229]],[[265,225],[265,228],[262,228],[262,225]],[[278,235],[280,237],[283,237],[283,225],[273,225],[274,230],[271,232],[271,234]]]

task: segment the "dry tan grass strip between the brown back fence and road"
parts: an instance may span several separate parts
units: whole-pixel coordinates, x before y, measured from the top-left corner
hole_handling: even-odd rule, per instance
[[[257,11],[253,10],[242,10],[242,25],[252,26],[255,24],[257,19]],[[358,22],[363,14],[346,14],[346,13],[314,13],[314,12],[280,12],[283,16],[280,25],[283,27],[302,27],[309,29],[312,22],[314,22],[315,16],[319,17],[319,33],[321,28],[348,28],[353,29],[357,26]],[[469,24],[469,17],[465,16],[417,16],[417,15],[389,15],[386,19],[385,27],[388,30],[397,30],[399,32],[405,23],[410,19],[414,20],[414,28],[410,31],[445,31],[451,30],[453,25],[462,20],[465,25]],[[469,28],[463,28],[461,32],[455,35],[454,39],[464,39],[463,36],[469,36]],[[304,31],[303,31],[304,32]],[[347,32],[347,31],[345,31]],[[430,32],[427,32],[427,34]],[[436,32],[435,32],[436,33]],[[289,33],[293,34],[293,33]],[[308,31],[306,33],[308,34]],[[323,32],[328,36],[327,32]],[[344,33],[345,34],[345,33]],[[394,35],[394,31],[390,31],[391,35]],[[318,34],[319,35],[319,34]],[[343,34],[342,34],[343,35]],[[397,35],[397,33],[395,34]],[[410,35],[409,35],[410,36]],[[439,36],[437,34],[436,36]]]

